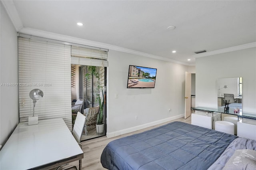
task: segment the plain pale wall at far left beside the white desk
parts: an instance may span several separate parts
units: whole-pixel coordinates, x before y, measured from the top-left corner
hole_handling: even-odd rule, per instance
[[[1,4],[0,83],[18,83],[17,32]],[[18,124],[18,86],[0,86],[0,144]]]

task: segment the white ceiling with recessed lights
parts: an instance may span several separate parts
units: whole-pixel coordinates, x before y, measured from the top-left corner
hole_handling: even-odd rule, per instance
[[[106,43],[186,65],[195,63],[194,51],[256,42],[256,0],[13,0],[12,5],[6,10],[10,16],[18,13],[16,22],[21,21],[22,28]]]

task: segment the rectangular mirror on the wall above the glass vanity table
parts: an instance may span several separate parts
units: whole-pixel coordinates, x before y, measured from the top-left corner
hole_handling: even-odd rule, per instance
[[[230,108],[242,109],[242,77],[218,79],[218,108],[224,107],[224,101]]]

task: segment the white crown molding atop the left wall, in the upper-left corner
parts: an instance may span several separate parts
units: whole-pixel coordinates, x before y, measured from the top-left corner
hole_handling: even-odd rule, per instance
[[[10,20],[12,21],[12,24],[14,25],[16,31],[20,31],[23,28],[22,21],[20,20],[20,16],[16,10],[16,7],[12,0],[1,0],[1,3],[3,4],[8,16],[10,17]]]

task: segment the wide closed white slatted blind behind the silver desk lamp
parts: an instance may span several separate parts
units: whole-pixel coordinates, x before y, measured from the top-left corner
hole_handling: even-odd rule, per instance
[[[70,45],[18,38],[20,122],[28,121],[33,103],[32,89],[41,89],[36,102],[38,119],[63,118],[71,129]]]

